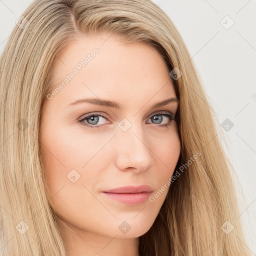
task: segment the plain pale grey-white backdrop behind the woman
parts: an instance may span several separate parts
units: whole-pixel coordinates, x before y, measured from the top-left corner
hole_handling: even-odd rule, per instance
[[[244,193],[239,197],[240,217],[248,247],[256,255],[256,0],[153,1],[179,30],[203,81],[210,102],[205,107],[223,126],[223,146]],[[30,2],[0,0],[0,54]]]

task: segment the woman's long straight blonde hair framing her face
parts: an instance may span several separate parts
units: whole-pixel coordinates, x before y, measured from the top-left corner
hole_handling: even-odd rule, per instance
[[[66,255],[45,192],[40,113],[52,89],[57,52],[100,31],[145,42],[157,49],[169,71],[182,72],[172,79],[181,140],[176,168],[200,152],[172,182],[153,225],[139,237],[140,255],[249,255],[210,104],[169,17],[150,0],[35,0],[22,16],[0,59],[0,255]],[[225,221],[234,226],[229,234],[221,229]]]

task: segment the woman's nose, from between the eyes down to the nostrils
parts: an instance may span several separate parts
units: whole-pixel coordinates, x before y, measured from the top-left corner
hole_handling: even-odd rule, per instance
[[[119,129],[113,143],[116,166],[120,170],[142,172],[154,162],[152,150],[141,126],[131,125],[126,131]]]

